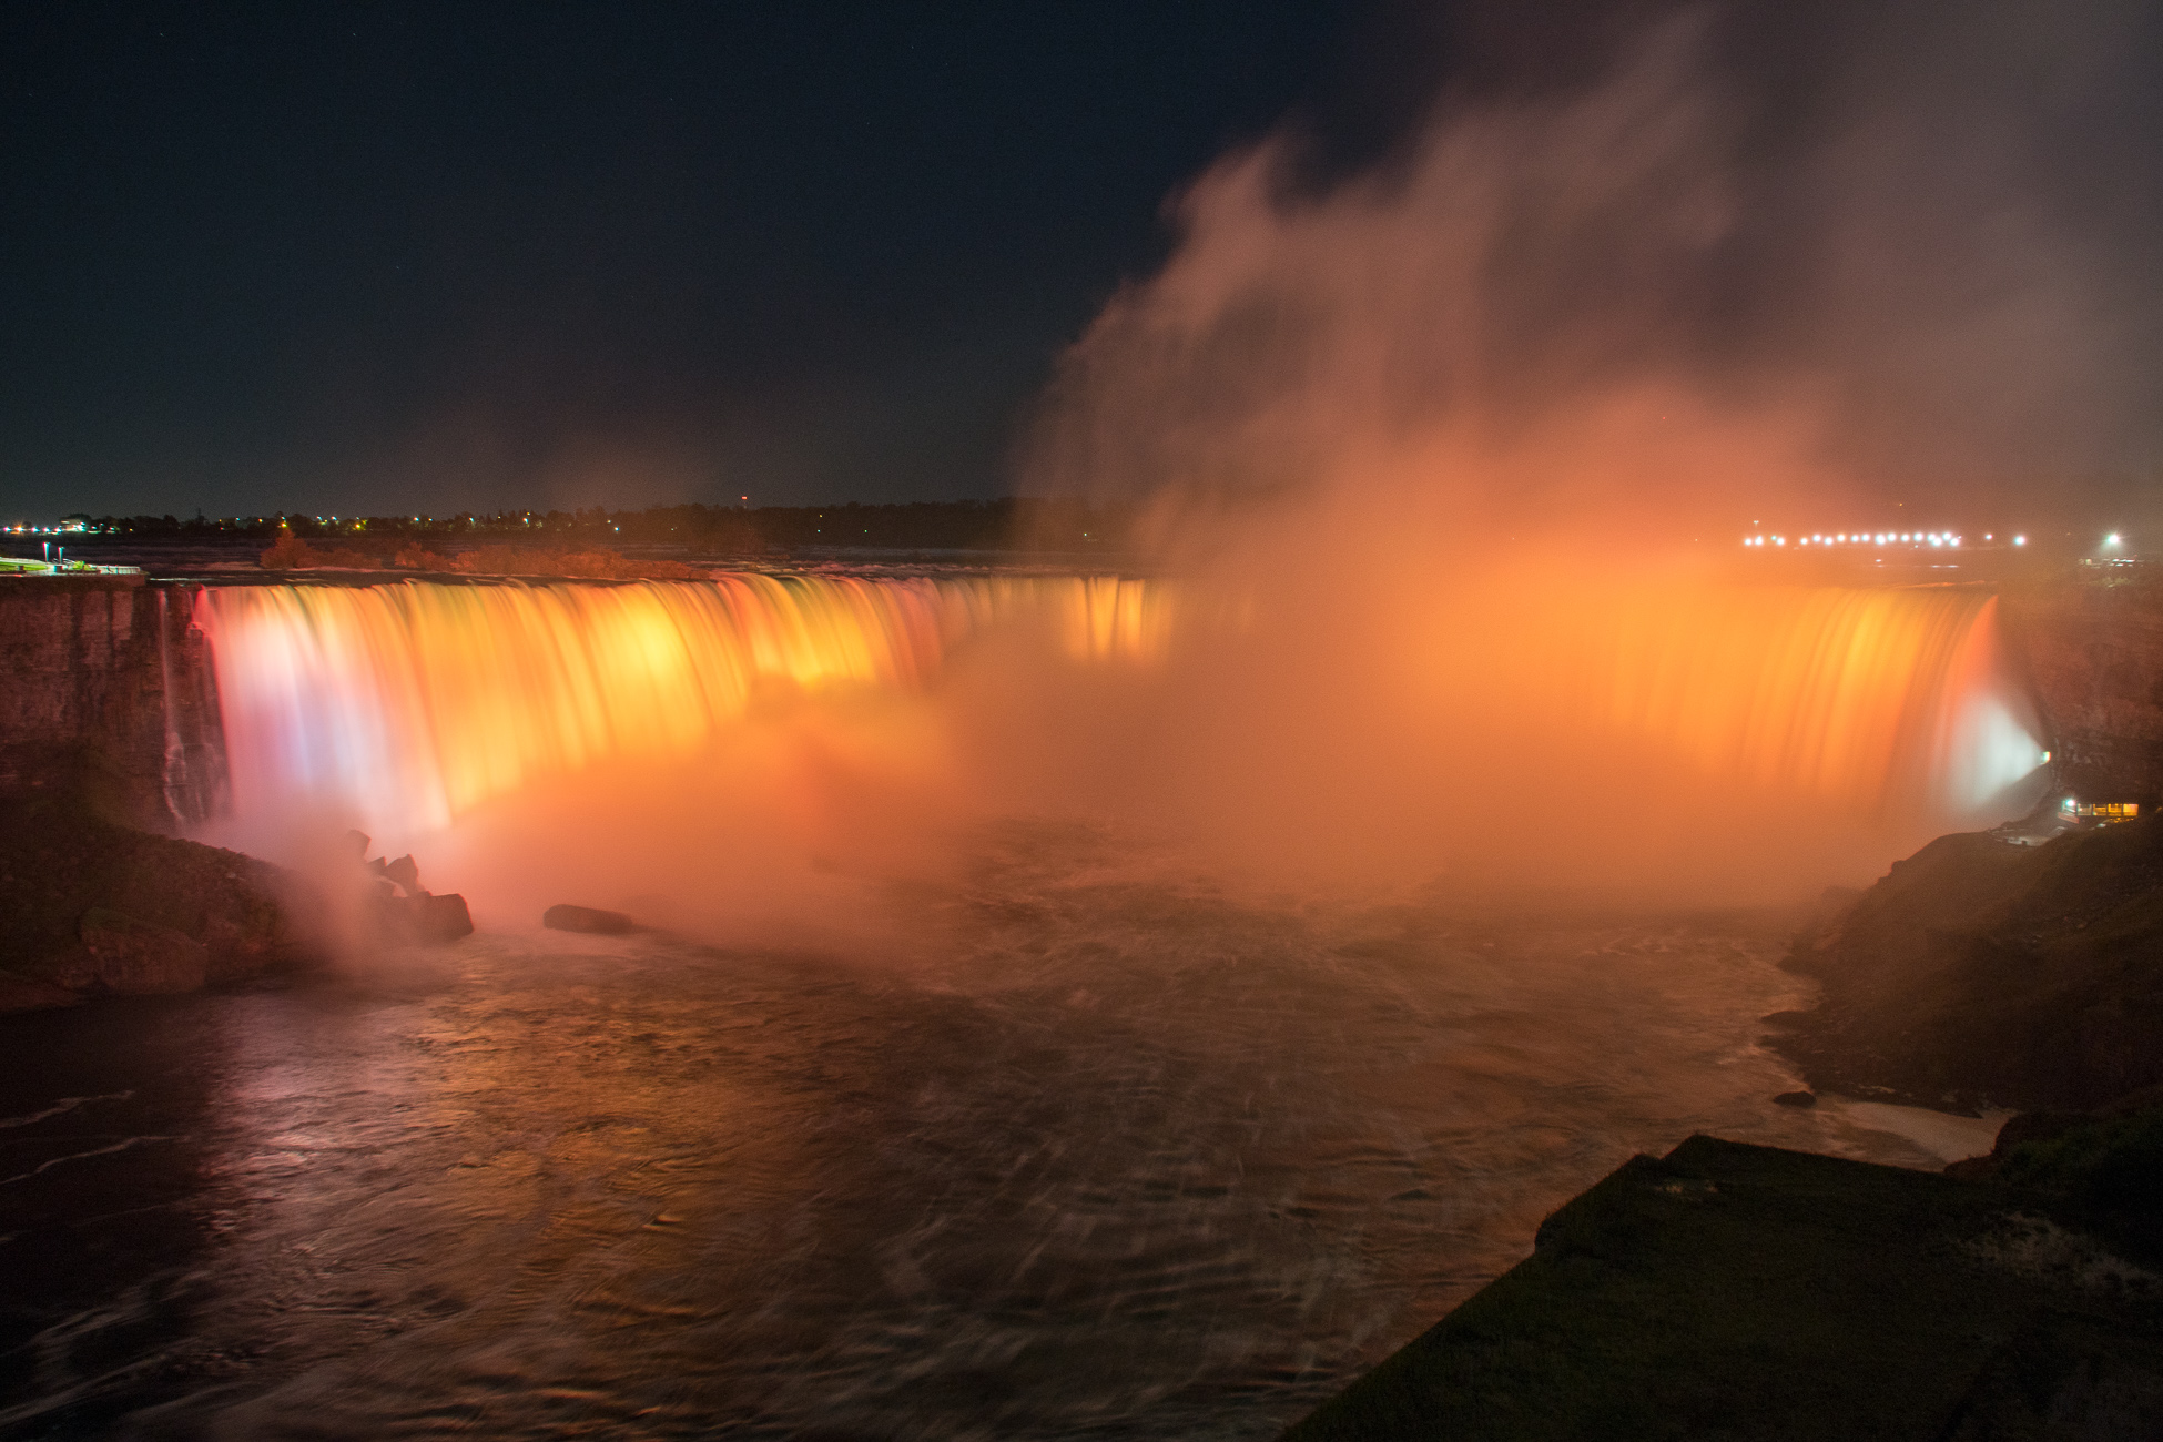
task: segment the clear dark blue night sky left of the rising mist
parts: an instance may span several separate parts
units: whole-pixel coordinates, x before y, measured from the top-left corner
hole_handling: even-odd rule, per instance
[[[1369,9],[17,0],[0,510],[997,495]]]

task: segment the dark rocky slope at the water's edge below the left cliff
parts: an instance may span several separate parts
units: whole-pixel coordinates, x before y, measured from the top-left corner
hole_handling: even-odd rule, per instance
[[[0,1012],[188,992],[314,960],[324,906],[294,873],[99,817],[78,796],[0,804]]]

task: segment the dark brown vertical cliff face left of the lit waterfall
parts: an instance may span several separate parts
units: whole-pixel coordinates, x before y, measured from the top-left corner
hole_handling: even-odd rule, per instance
[[[0,796],[87,791],[147,830],[203,819],[225,789],[197,586],[0,579]]]

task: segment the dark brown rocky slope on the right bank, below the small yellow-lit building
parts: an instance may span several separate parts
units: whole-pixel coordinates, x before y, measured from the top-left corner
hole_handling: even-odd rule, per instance
[[[1819,1092],[2087,1111],[2163,1083],[2163,817],[2038,847],[1938,837],[1797,938],[1767,1016]]]

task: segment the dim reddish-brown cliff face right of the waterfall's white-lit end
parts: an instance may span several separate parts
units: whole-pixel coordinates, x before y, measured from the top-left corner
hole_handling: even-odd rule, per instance
[[[2007,588],[1999,625],[2035,687],[2057,785],[2094,802],[2163,800],[2163,586]]]

